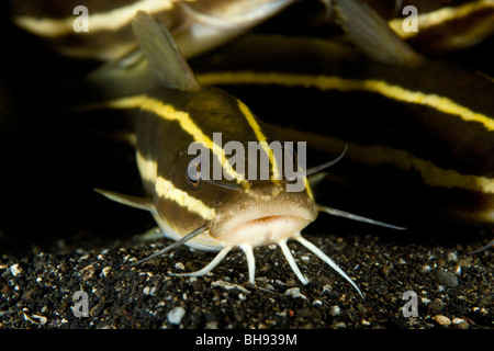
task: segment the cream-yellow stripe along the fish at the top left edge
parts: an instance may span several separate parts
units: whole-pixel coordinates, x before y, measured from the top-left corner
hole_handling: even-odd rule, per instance
[[[190,1],[190,0],[186,0]],[[176,0],[141,0],[127,7],[116,8],[109,12],[98,12],[90,14],[88,19],[90,32],[97,31],[117,31],[127,25],[138,10],[148,13],[156,13],[165,10],[171,10]],[[91,9],[88,9],[91,13]],[[74,34],[74,21],[77,15],[64,19],[37,19],[33,16],[16,16],[16,25],[30,31],[33,34],[46,37],[56,37]]]

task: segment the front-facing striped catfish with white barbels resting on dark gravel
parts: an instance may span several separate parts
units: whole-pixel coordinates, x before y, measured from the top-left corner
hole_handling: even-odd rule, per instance
[[[287,168],[280,166],[290,165],[288,159],[293,154],[289,151],[282,154],[283,157],[277,154],[274,141],[281,139],[249,107],[222,90],[201,87],[169,33],[150,15],[139,12],[133,20],[133,27],[160,84],[148,92],[111,99],[103,107],[127,111],[136,116],[136,159],[148,197],[98,191],[116,202],[149,211],[164,234],[177,240],[139,262],[182,244],[200,250],[220,251],[200,271],[182,274],[203,275],[232,249],[240,248],[247,258],[249,282],[254,284],[252,249],[276,244],[300,281],[306,284],[308,280],[287,246],[288,239],[295,239],[343,275],[363,297],[353,281],[301,235],[301,230],[316,219],[318,212],[403,229],[315,203],[307,177],[335,163],[341,156],[306,170],[297,162],[296,177],[289,177]],[[222,143],[215,139],[215,133],[221,133]],[[227,159],[226,156],[233,152],[228,149],[231,143],[239,143],[249,152],[255,143],[258,146],[256,152],[268,160],[265,165],[268,165],[269,177],[258,180],[251,176],[252,167],[254,174],[262,171],[262,163],[259,159],[258,168],[257,158],[252,162],[250,155],[247,167],[242,170],[242,161],[233,159],[242,156],[238,148]],[[213,180],[207,177],[206,162],[198,163],[197,158],[189,155],[191,145],[200,145],[211,154],[210,169],[214,172],[214,165],[220,166],[223,177]],[[300,159],[302,154],[297,157]],[[303,183],[302,189],[290,191],[288,185],[294,181]]]

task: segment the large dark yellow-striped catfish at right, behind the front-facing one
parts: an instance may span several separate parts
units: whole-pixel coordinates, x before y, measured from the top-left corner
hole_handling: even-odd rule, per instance
[[[351,2],[340,1],[344,11],[353,11]],[[367,24],[367,34],[383,33]],[[348,144],[332,174],[351,184],[363,210],[363,194],[383,199],[373,215],[388,212],[408,227],[428,219],[494,224],[492,78],[425,59],[391,36],[384,47],[369,39],[366,54],[378,52],[385,63],[348,43],[250,36],[192,65],[202,84],[239,97],[271,127],[283,125],[277,132],[284,138],[333,155]]]

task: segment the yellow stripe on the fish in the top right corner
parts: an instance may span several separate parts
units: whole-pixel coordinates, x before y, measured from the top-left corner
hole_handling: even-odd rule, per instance
[[[403,31],[403,19],[393,19],[389,22],[389,24],[393,29],[393,31],[395,31],[402,38],[406,39],[415,36],[420,31],[426,30],[428,27],[439,25],[445,22],[467,18],[470,14],[474,13],[475,11],[489,8],[494,9],[494,0],[475,1],[458,7],[447,7],[437,11],[420,13],[417,16],[418,22],[417,32]]]

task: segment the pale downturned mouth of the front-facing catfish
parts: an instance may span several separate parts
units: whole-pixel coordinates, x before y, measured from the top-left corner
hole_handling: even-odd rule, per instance
[[[232,215],[220,225],[213,225],[210,235],[229,246],[271,245],[300,233],[316,215],[310,208],[282,207],[266,211],[262,206],[255,206],[248,212]]]

